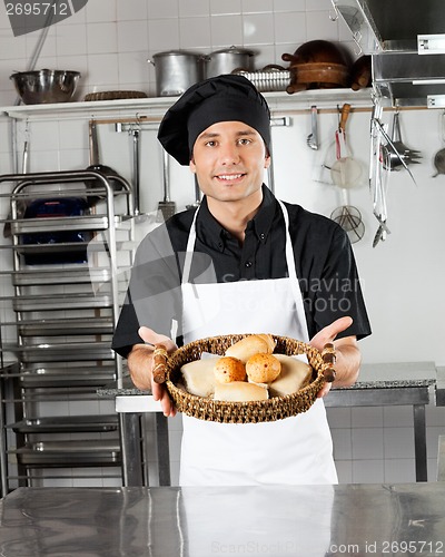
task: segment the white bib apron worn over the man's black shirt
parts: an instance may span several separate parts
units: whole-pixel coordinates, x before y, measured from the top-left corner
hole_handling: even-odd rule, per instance
[[[220,334],[270,333],[308,342],[303,296],[286,224],[288,277],[190,284],[196,215],[182,274],[184,341]],[[337,483],[325,405],[265,423],[215,423],[182,416],[181,486]]]

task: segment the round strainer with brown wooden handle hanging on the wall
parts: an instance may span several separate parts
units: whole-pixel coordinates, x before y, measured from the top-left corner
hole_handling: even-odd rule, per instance
[[[330,177],[334,184],[342,188],[357,185],[362,176],[362,166],[355,160],[346,141],[346,121],[350,113],[350,105],[343,105],[338,129],[335,131],[336,162],[330,167]]]

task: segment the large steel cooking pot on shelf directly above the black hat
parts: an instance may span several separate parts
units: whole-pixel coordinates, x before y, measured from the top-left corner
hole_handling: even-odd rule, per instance
[[[154,60],[158,97],[178,97],[191,85],[204,79],[205,57],[187,50],[157,52]]]

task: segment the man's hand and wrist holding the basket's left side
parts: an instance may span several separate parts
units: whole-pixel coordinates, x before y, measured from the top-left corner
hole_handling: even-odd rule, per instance
[[[175,342],[164,334],[158,334],[147,326],[141,326],[138,331],[139,336],[147,344],[135,344],[128,354],[128,369],[131,380],[138,389],[150,389],[155,400],[160,401],[164,416],[176,416],[176,408],[164,384],[155,383],[152,379],[154,350],[155,344],[164,344],[167,352],[174,352],[177,349]]]

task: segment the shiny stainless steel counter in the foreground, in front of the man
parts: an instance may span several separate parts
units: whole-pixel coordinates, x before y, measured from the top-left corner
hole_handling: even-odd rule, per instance
[[[0,501],[3,557],[445,553],[445,483],[19,488]]]

